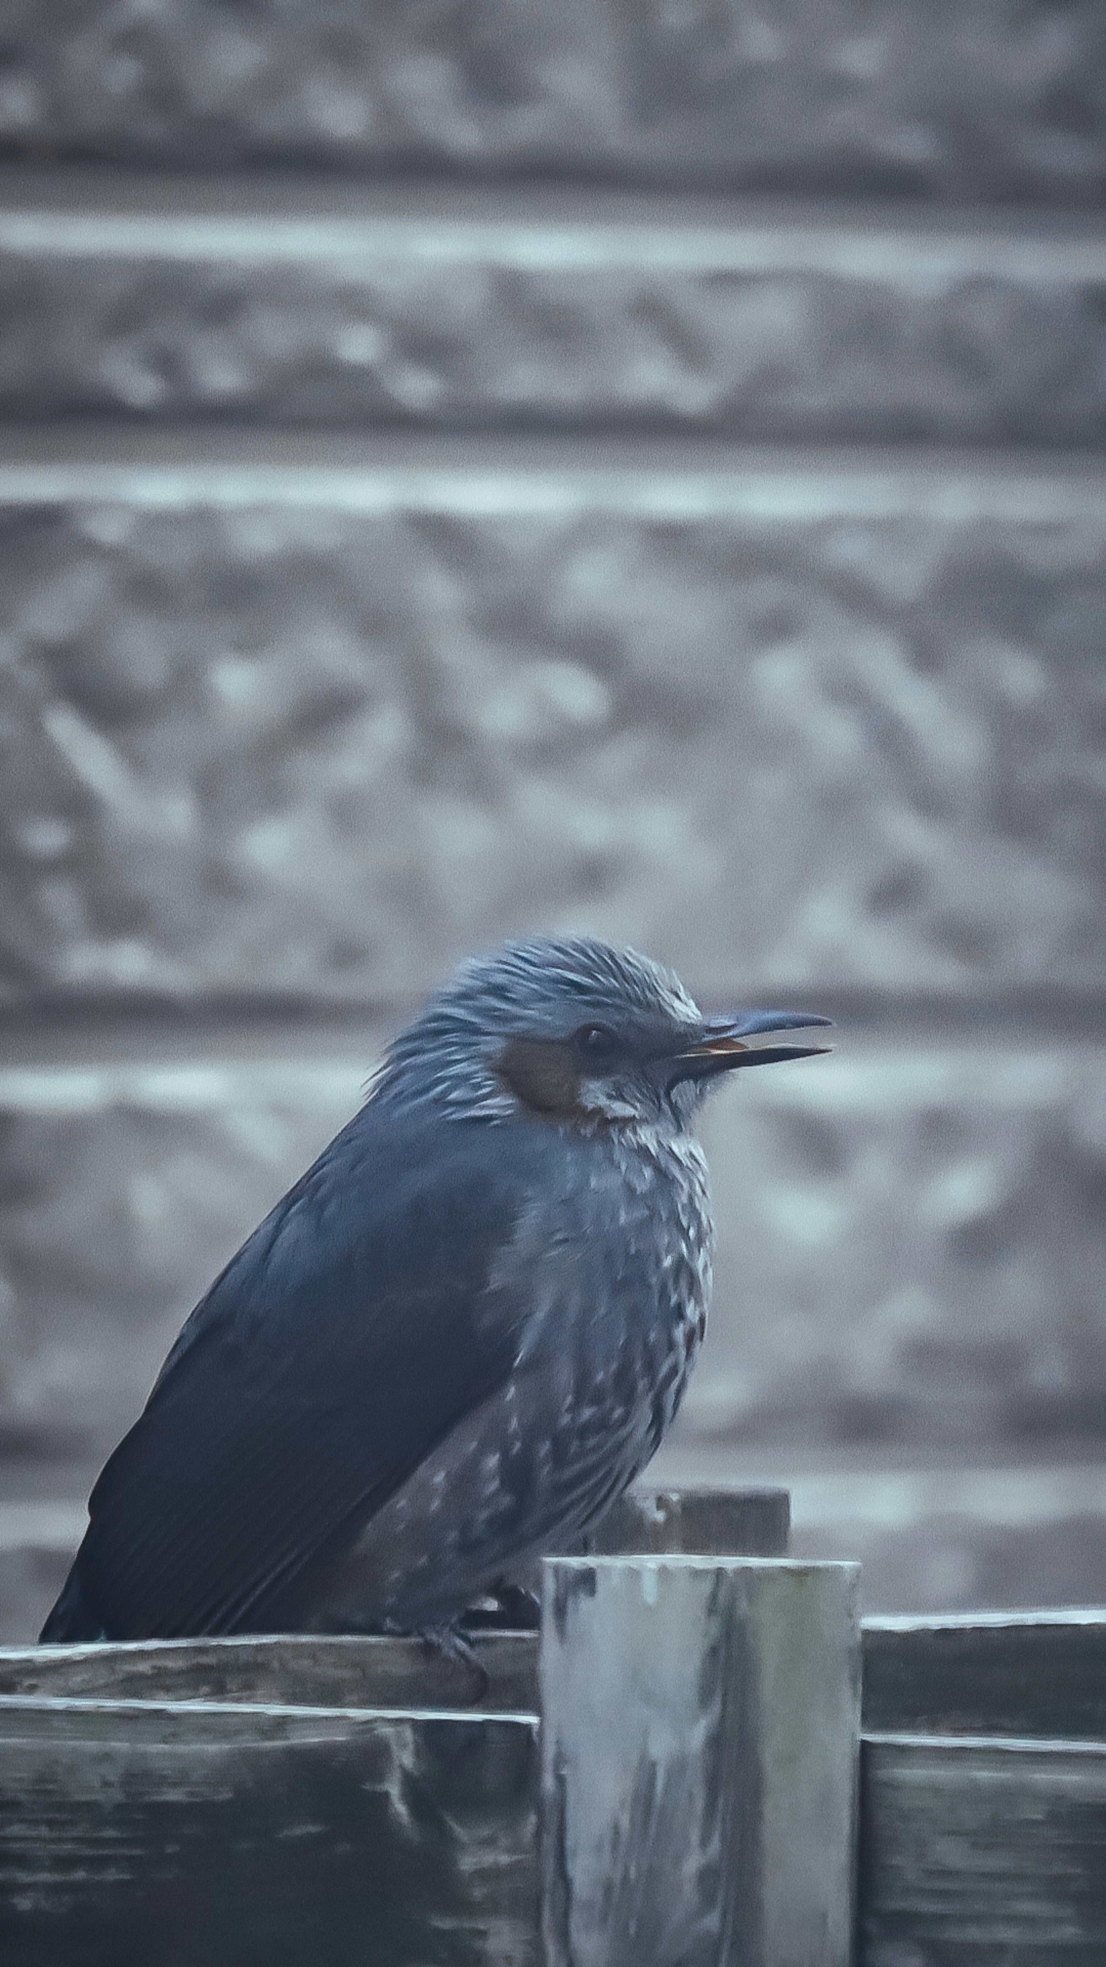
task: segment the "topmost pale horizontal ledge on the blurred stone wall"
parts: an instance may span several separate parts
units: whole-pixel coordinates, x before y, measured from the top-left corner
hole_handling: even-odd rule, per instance
[[[1051,209],[4,167],[0,252],[354,269],[401,258],[527,273],[811,271],[927,293],[958,279],[1102,281],[1106,222]]]

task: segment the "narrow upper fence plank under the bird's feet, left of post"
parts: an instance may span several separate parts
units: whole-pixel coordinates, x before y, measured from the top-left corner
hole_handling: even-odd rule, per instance
[[[0,1696],[256,1701],[303,1707],[537,1709],[537,1637],[472,1639],[488,1686],[421,1639],[165,1639],[0,1650]]]

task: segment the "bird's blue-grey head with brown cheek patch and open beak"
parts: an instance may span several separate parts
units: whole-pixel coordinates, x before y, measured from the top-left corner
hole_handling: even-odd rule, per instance
[[[679,1129],[722,1074],[825,1050],[750,1039],[829,1023],[807,1011],[703,1017],[679,978],[636,950],[510,942],[462,964],[394,1043],[378,1090],[462,1117]]]

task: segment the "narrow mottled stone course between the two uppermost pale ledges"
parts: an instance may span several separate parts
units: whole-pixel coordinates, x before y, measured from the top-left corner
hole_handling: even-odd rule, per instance
[[[537,230],[537,228],[535,228]],[[0,258],[0,413],[740,437],[1106,435],[1106,277]],[[919,248],[925,252],[925,248]],[[801,258],[801,254],[799,254]],[[1106,254],[1104,254],[1106,273]]]

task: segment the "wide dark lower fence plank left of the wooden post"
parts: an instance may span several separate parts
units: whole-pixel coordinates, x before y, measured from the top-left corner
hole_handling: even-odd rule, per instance
[[[529,1967],[537,1723],[0,1701],[4,1967]]]

